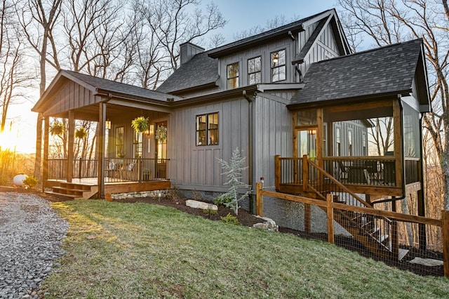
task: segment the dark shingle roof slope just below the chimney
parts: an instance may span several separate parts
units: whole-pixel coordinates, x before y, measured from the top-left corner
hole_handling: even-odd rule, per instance
[[[215,84],[217,79],[218,60],[210,58],[207,52],[203,52],[181,65],[156,91],[172,93],[196,86]]]

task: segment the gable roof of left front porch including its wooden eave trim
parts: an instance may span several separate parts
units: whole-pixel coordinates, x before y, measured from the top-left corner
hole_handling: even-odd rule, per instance
[[[79,72],[61,69],[58,74],[56,74],[53,81],[51,81],[48,88],[46,88],[43,95],[41,95],[39,101],[36,102],[36,105],[34,105],[32,111],[38,112],[39,107],[41,107],[46,99],[55,92],[55,89],[58,88],[58,86],[63,84],[65,81],[64,79],[69,79],[76,82],[84,88],[92,91],[94,95],[112,95],[116,98],[133,98],[135,100],[142,100],[145,102],[167,102],[168,98],[174,98],[174,100],[180,99],[176,96],[161,93],[159,91],[152,91],[150,89],[141,88],[130,84],[124,84],[112,80],[93,77],[88,74],[81,74]]]

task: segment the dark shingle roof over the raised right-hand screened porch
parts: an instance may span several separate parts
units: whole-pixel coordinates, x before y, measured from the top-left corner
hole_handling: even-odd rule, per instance
[[[315,62],[290,105],[411,92],[421,39]]]

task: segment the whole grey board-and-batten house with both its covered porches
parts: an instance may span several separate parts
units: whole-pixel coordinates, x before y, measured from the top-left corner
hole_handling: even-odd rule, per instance
[[[417,192],[424,215],[420,115],[430,103],[422,41],[351,53],[334,9],[209,51],[181,44],[179,69],[156,91],[62,70],[32,110],[45,119],[43,178],[54,192],[102,197],[171,185],[213,197],[227,190],[217,159],[239,148],[253,188],[263,178],[267,189],[320,198],[304,180],[325,175],[364,194],[368,206]],[[131,121],[141,116],[149,130],[135,132]],[[50,117],[68,119],[69,147],[75,119],[98,122],[91,166],[72,163],[73,151],[48,159]],[[391,121],[394,144],[370,154],[379,118]],[[156,139],[160,129],[166,135]],[[304,176],[304,159],[326,173]],[[85,176],[91,187],[81,184]]]

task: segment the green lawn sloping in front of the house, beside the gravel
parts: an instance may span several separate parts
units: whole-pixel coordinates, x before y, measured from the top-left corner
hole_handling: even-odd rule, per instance
[[[419,277],[322,241],[152,204],[54,203],[70,224],[46,298],[449,298]]]

